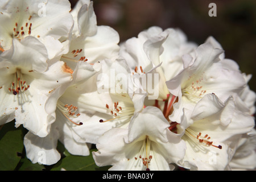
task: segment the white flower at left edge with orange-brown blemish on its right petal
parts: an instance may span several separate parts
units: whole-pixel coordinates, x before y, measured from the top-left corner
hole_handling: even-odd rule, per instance
[[[38,51],[39,50],[39,51]],[[47,50],[36,38],[13,39],[11,48],[0,55],[1,123],[15,118],[35,135],[45,137],[54,118],[44,105],[51,91],[71,81],[62,61],[47,59]],[[49,64],[48,64],[48,62]]]

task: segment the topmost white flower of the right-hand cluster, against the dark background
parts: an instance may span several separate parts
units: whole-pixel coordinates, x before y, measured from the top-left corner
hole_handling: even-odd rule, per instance
[[[150,88],[142,87],[151,99],[164,101],[170,96],[165,82],[179,73],[183,68],[181,56],[194,48],[195,44],[188,43],[180,30],[167,28],[163,31],[160,27],[150,27],[140,32],[138,38],[121,44],[120,55],[126,59],[134,77],[146,76],[150,79],[148,75],[158,75],[159,80],[154,80],[158,88],[154,90],[156,93],[152,94]]]

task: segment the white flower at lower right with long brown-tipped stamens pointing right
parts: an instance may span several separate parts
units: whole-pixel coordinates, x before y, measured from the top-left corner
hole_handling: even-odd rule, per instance
[[[209,109],[210,108],[210,109]],[[183,118],[176,125],[177,133],[187,150],[181,166],[193,170],[224,170],[229,163],[233,136],[249,133],[253,118],[238,110],[232,96],[222,103],[214,94],[205,95],[197,102],[191,119]]]

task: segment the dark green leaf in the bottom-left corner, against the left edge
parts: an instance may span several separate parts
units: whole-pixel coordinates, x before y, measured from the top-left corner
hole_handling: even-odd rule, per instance
[[[20,161],[23,150],[22,127],[16,128],[14,121],[1,126],[0,130],[0,170],[13,171]]]

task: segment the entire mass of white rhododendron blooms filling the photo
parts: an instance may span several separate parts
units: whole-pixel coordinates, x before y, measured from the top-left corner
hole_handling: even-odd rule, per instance
[[[119,43],[90,0],[0,8],[0,125],[28,130],[32,163],[57,163],[60,141],[82,156],[96,144],[95,163],[110,170],[256,167],[251,75],[212,36],[197,45],[154,26]]]

